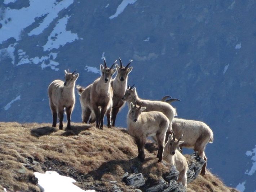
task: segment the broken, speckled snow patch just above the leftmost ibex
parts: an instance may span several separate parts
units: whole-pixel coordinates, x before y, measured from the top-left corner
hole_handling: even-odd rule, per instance
[[[22,58],[18,62],[17,66],[22,64],[39,64],[41,63],[41,69],[44,69],[46,67],[50,67],[52,70],[58,71],[59,69],[56,68],[56,66],[59,65],[58,62],[54,61],[57,57],[57,53],[49,53],[48,55],[34,58],[28,58],[28,55],[24,55],[23,52],[21,54]]]

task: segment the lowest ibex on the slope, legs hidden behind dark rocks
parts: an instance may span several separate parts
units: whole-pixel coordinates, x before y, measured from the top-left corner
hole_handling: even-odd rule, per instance
[[[172,130],[171,130],[172,131]],[[173,135],[173,137],[172,137]],[[170,134],[168,137],[168,141],[164,146],[163,152],[163,160],[166,161],[170,165],[175,165],[177,170],[180,172],[178,177],[178,182],[181,182],[185,187],[187,186],[187,160],[178,151],[178,146],[183,143],[180,139],[175,139],[175,134],[172,131],[172,135]]]

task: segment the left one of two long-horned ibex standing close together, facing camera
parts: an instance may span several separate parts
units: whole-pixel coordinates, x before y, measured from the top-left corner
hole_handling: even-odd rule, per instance
[[[102,73],[100,78],[96,79],[86,89],[76,86],[78,92],[81,94],[80,103],[83,122],[87,122],[90,114],[93,112],[96,117],[96,127],[100,129],[103,128],[105,114],[107,116],[107,126],[111,126],[113,90],[110,81],[112,75],[116,72],[116,68],[112,69],[116,61],[110,68],[107,67],[105,58],[103,58],[103,61],[104,66],[102,64],[100,65]]]

